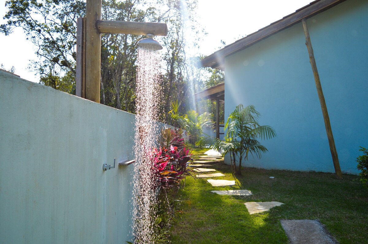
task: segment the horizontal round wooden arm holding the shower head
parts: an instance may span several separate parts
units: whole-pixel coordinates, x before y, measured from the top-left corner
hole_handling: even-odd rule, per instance
[[[167,35],[167,25],[165,23],[98,20],[96,25],[100,33]]]

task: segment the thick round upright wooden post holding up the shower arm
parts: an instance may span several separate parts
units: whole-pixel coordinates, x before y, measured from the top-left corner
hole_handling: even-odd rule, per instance
[[[101,34],[96,28],[96,21],[101,18],[101,1],[86,1],[86,70],[85,98],[100,102],[101,77]]]

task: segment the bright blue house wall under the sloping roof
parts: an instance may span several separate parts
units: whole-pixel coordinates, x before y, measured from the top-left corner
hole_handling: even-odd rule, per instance
[[[367,13],[368,1],[347,0],[307,20],[340,165],[353,174],[368,146]],[[334,172],[301,23],[226,58],[225,73],[225,114],[255,105],[277,132],[246,166]]]

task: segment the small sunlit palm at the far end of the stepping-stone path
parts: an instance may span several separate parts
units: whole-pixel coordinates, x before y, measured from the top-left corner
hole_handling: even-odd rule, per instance
[[[199,115],[195,110],[189,110],[180,120],[181,126],[187,130],[190,135],[190,142],[195,145],[199,136],[203,133],[203,127],[213,123],[208,113]]]

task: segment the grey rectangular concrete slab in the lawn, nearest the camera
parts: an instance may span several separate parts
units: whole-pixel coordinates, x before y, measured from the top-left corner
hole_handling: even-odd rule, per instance
[[[318,220],[302,219],[287,220],[281,219],[281,226],[284,228],[290,244],[338,244],[339,242],[331,236],[328,230]]]

